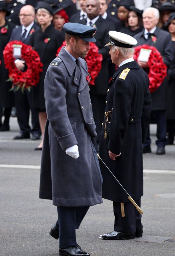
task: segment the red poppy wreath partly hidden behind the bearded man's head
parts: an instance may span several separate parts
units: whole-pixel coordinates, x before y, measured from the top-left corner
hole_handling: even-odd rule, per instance
[[[61,48],[66,45],[66,41],[63,42],[62,46],[58,48],[56,56],[58,56]],[[90,50],[85,57],[85,60],[88,64],[88,72],[90,74],[90,82],[89,85],[95,85],[95,78],[98,76],[100,70],[101,70],[101,63],[103,60],[102,54],[98,53],[99,48],[95,43],[90,42]],[[86,80],[88,81],[89,79]]]

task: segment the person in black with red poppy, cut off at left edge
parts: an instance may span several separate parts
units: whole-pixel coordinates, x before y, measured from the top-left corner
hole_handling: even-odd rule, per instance
[[[9,119],[11,108],[15,105],[13,92],[9,92],[12,86],[11,82],[7,82],[8,70],[4,66],[3,50],[10,39],[10,35],[14,25],[5,20],[5,17],[10,13],[7,10],[4,1],[0,2],[0,131],[9,131]],[[4,108],[4,122],[1,123],[1,113]]]

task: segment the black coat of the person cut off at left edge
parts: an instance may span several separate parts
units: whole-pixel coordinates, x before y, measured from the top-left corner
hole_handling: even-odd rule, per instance
[[[7,27],[7,32],[0,32],[0,107],[13,107],[15,105],[14,93],[13,91],[9,91],[12,83],[7,82],[9,77],[8,69],[6,69],[4,65],[3,50],[10,40],[10,35],[12,33],[14,25],[6,21],[6,23],[2,27],[0,27],[0,31],[2,28],[5,27]]]

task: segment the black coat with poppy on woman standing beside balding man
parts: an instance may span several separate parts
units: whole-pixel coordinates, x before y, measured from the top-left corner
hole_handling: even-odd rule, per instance
[[[48,42],[45,42],[45,39],[48,39]],[[38,110],[46,110],[43,89],[44,78],[50,62],[55,59],[57,49],[62,45],[63,41],[63,34],[56,30],[52,24],[44,32],[40,28],[31,35],[30,45],[38,52],[43,63],[43,72],[40,74],[40,81],[36,87],[32,88],[32,105]]]

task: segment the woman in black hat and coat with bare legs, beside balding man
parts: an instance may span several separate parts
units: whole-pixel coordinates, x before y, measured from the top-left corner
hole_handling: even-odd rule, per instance
[[[41,62],[43,63],[43,72],[41,72],[40,81],[37,86],[32,88],[32,104],[39,112],[39,122],[43,138],[47,119],[44,99],[44,78],[50,62],[56,57],[57,49],[64,41],[64,37],[60,31],[53,27],[51,23],[53,20],[53,9],[49,4],[45,2],[38,2],[35,9],[40,29],[32,33],[30,43],[41,58]],[[35,150],[41,150],[42,146],[43,139]]]

